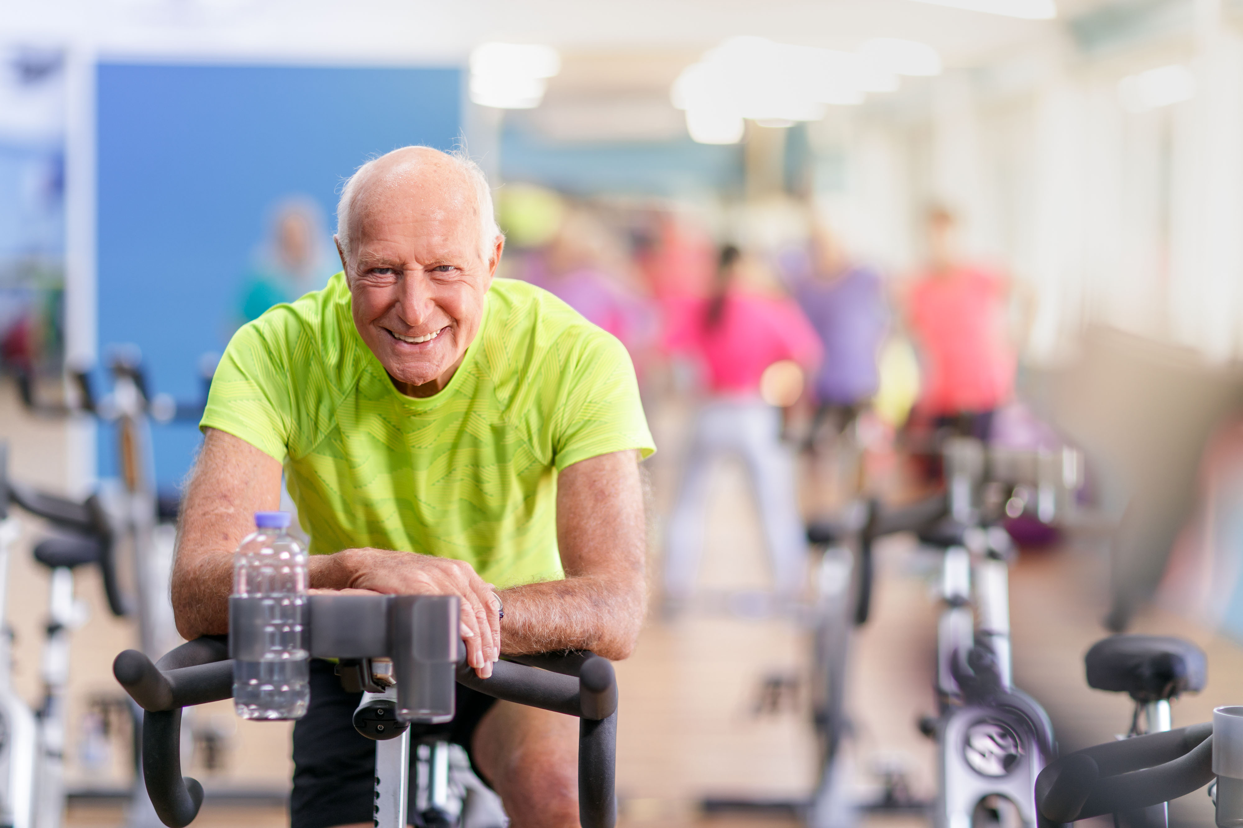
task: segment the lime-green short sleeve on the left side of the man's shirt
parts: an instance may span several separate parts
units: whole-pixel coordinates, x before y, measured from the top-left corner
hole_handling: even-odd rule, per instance
[[[199,428],[229,432],[283,463],[293,431],[290,365],[287,348],[265,325],[272,319],[242,325],[229,340]]]

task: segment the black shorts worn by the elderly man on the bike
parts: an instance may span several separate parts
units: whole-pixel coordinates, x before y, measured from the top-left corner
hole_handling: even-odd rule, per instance
[[[370,824],[374,817],[375,742],[354,730],[354,709],[362,694],[346,693],[334,668],[329,662],[311,660],[311,705],[307,715],[293,725],[291,828]],[[496,699],[461,684],[456,689],[454,720],[424,725],[423,730],[420,725],[410,725],[411,734],[447,729],[449,741],[466,749],[474,767],[471,736]]]

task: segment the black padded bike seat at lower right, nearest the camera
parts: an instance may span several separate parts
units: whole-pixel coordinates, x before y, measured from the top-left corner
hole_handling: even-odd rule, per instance
[[[1204,650],[1170,636],[1110,636],[1084,655],[1088,685],[1129,693],[1136,701],[1163,701],[1198,693],[1207,680]]]

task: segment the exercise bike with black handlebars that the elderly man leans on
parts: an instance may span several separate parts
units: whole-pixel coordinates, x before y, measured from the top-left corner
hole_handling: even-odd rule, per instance
[[[614,756],[618,688],[613,665],[592,653],[506,657],[491,678],[480,679],[465,663],[456,639],[456,597],[312,595],[305,606],[308,649],[316,658],[339,658],[347,690],[379,690],[364,696],[354,726],[375,741],[377,828],[404,828],[408,814],[420,828],[451,828],[460,813],[445,786],[446,746],[435,730],[443,700],[456,680],[480,693],[517,704],[577,716],[579,819],[583,828],[612,828],[617,821]],[[232,629],[232,648],[246,631]],[[183,778],[180,719],[184,706],[227,699],[232,662],[226,637],[205,637],[178,647],[152,664],[137,650],[121,653],[113,673],[142,708],[143,773],[160,821],[183,828],[198,816],[203,787]],[[449,714],[451,718],[451,713]],[[418,722],[418,724],[415,724]],[[430,729],[429,729],[430,725]],[[411,739],[411,731],[423,735]],[[411,744],[426,744],[428,773],[408,776]],[[413,796],[411,796],[413,793]],[[409,812],[411,799],[416,803]]]

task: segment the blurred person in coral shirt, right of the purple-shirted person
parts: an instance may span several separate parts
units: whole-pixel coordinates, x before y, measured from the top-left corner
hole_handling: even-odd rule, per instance
[[[920,354],[916,411],[937,431],[977,437],[1014,392],[1018,359],[1008,335],[1013,286],[1001,272],[963,261],[957,220],[945,207],[927,216],[929,263],[906,286],[906,324]]]

